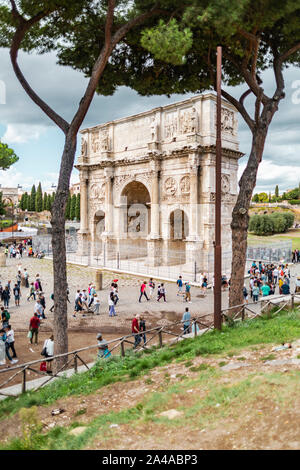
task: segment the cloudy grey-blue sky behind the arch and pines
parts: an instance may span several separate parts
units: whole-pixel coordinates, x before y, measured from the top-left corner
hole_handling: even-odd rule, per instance
[[[70,120],[84,92],[87,80],[71,68],[59,67],[55,56],[21,53],[21,68],[32,87],[65,119]],[[2,186],[21,185],[24,190],[41,181],[48,190],[58,179],[63,134],[52,121],[31,102],[11,68],[8,50],[0,49],[0,139],[14,148],[20,160],[10,170],[0,172]],[[264,76],[264,88],[271,93],[274,79],[271,71]],[[260,165],[256,192],[274,192],[275,185],[283,192],[300,181],[300,71],[285,72],[286,98],[280,104],[269,131],[263,162]],[[230,90],[239,97],[242,89]],[[136,114],[156,106],[180,101],[192,95],[171,98],[140,97],[127,88],[120,88],[112,97],[95,97],[82,128]],[[5,103],[4,103],[5,101]],[[249,101],[251,106],[251,100]],[[251,135],[239,119],[240,150],[247,156]],[[240,160],[240,173],[245,167]],[[74,170],[72,182],[78,180]]]

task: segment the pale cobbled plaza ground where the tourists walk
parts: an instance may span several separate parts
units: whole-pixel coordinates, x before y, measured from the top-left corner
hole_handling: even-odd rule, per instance
[[[42,287],[46,299],[46,316],[41,330],[50,330],[52,328],[53,314],[49,312],[52,306],[50,295],[53,292],[53,267],[52,260],[38,260],[28,257],[22,260],[7,259],[7,266],[0,268],[0,280],[5,285],[11,280],[13,286],[16,282],[18,265],[22,264],[22,269],[26,268],[29,273],[29,282],[33,282],[37,273],[40,274]],[[93,282],[95,271],[91,268],[68,265],[68,283],[70,288],[70,301],[68,304],[69,329],[73,331],[86,330],[93,332],[102,329],[105,333],[127,334],[131,330],[131,320],[136,313],[144,313],[147,322],[147,328],[157,324],[172,322],[181,319],[186,306],[194,315],[209,314],[213,312],[213,296],[211,290],[207,291],[205,297],[201,295],[201,290],[197,287],[191,288],[192,303],[186,303],[183,298],[177,296],[175,283],[165,283],[167,302],[163,299],[157,302],[156,295],[149,302],[142,298],[138,302],[140,284],[143,278],[137,278],[127,274],[104,273],[104,289],[98,292],[101,300],[100,315],[89,315],[86,317],[77,316],[73,318],[74,298],[77,289],[87,289],[90,282]],[[179,273],[178,273],[179,274]],[[293,292],[294,279],[300,274],[300,264],[291,267],[291,286]],[[116,307],[117,317],[108,316],[108,295],[110,283],[113,279],[118,279],[120,301]],[[155,281],[156,287],[159,282]],[[155,289],[156,290],[156,289]],[[278,288],[277,288],[278,290]],[[276,290],[276,293],[278,293]],[[34,312],[33,300],[27,301],[29,289],[22,287],[20,307],[15,307],[14,297],[10,299],[9,311],[11,314],[11,324],[16,331],[28,329],[29,319]],[[223,308],[228,304],[228,291],[223,292]]]

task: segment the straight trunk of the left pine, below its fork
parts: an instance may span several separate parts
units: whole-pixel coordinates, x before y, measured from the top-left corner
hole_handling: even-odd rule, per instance
[[[67,267],[65,244],[65,208],[69,196],[71,172],[76,153],[76,137],[66,136],[56,196],[51,210],[53,283],[54,283],[54,354],[68,352]],[[56,367],[67,362],[58,360]]]

